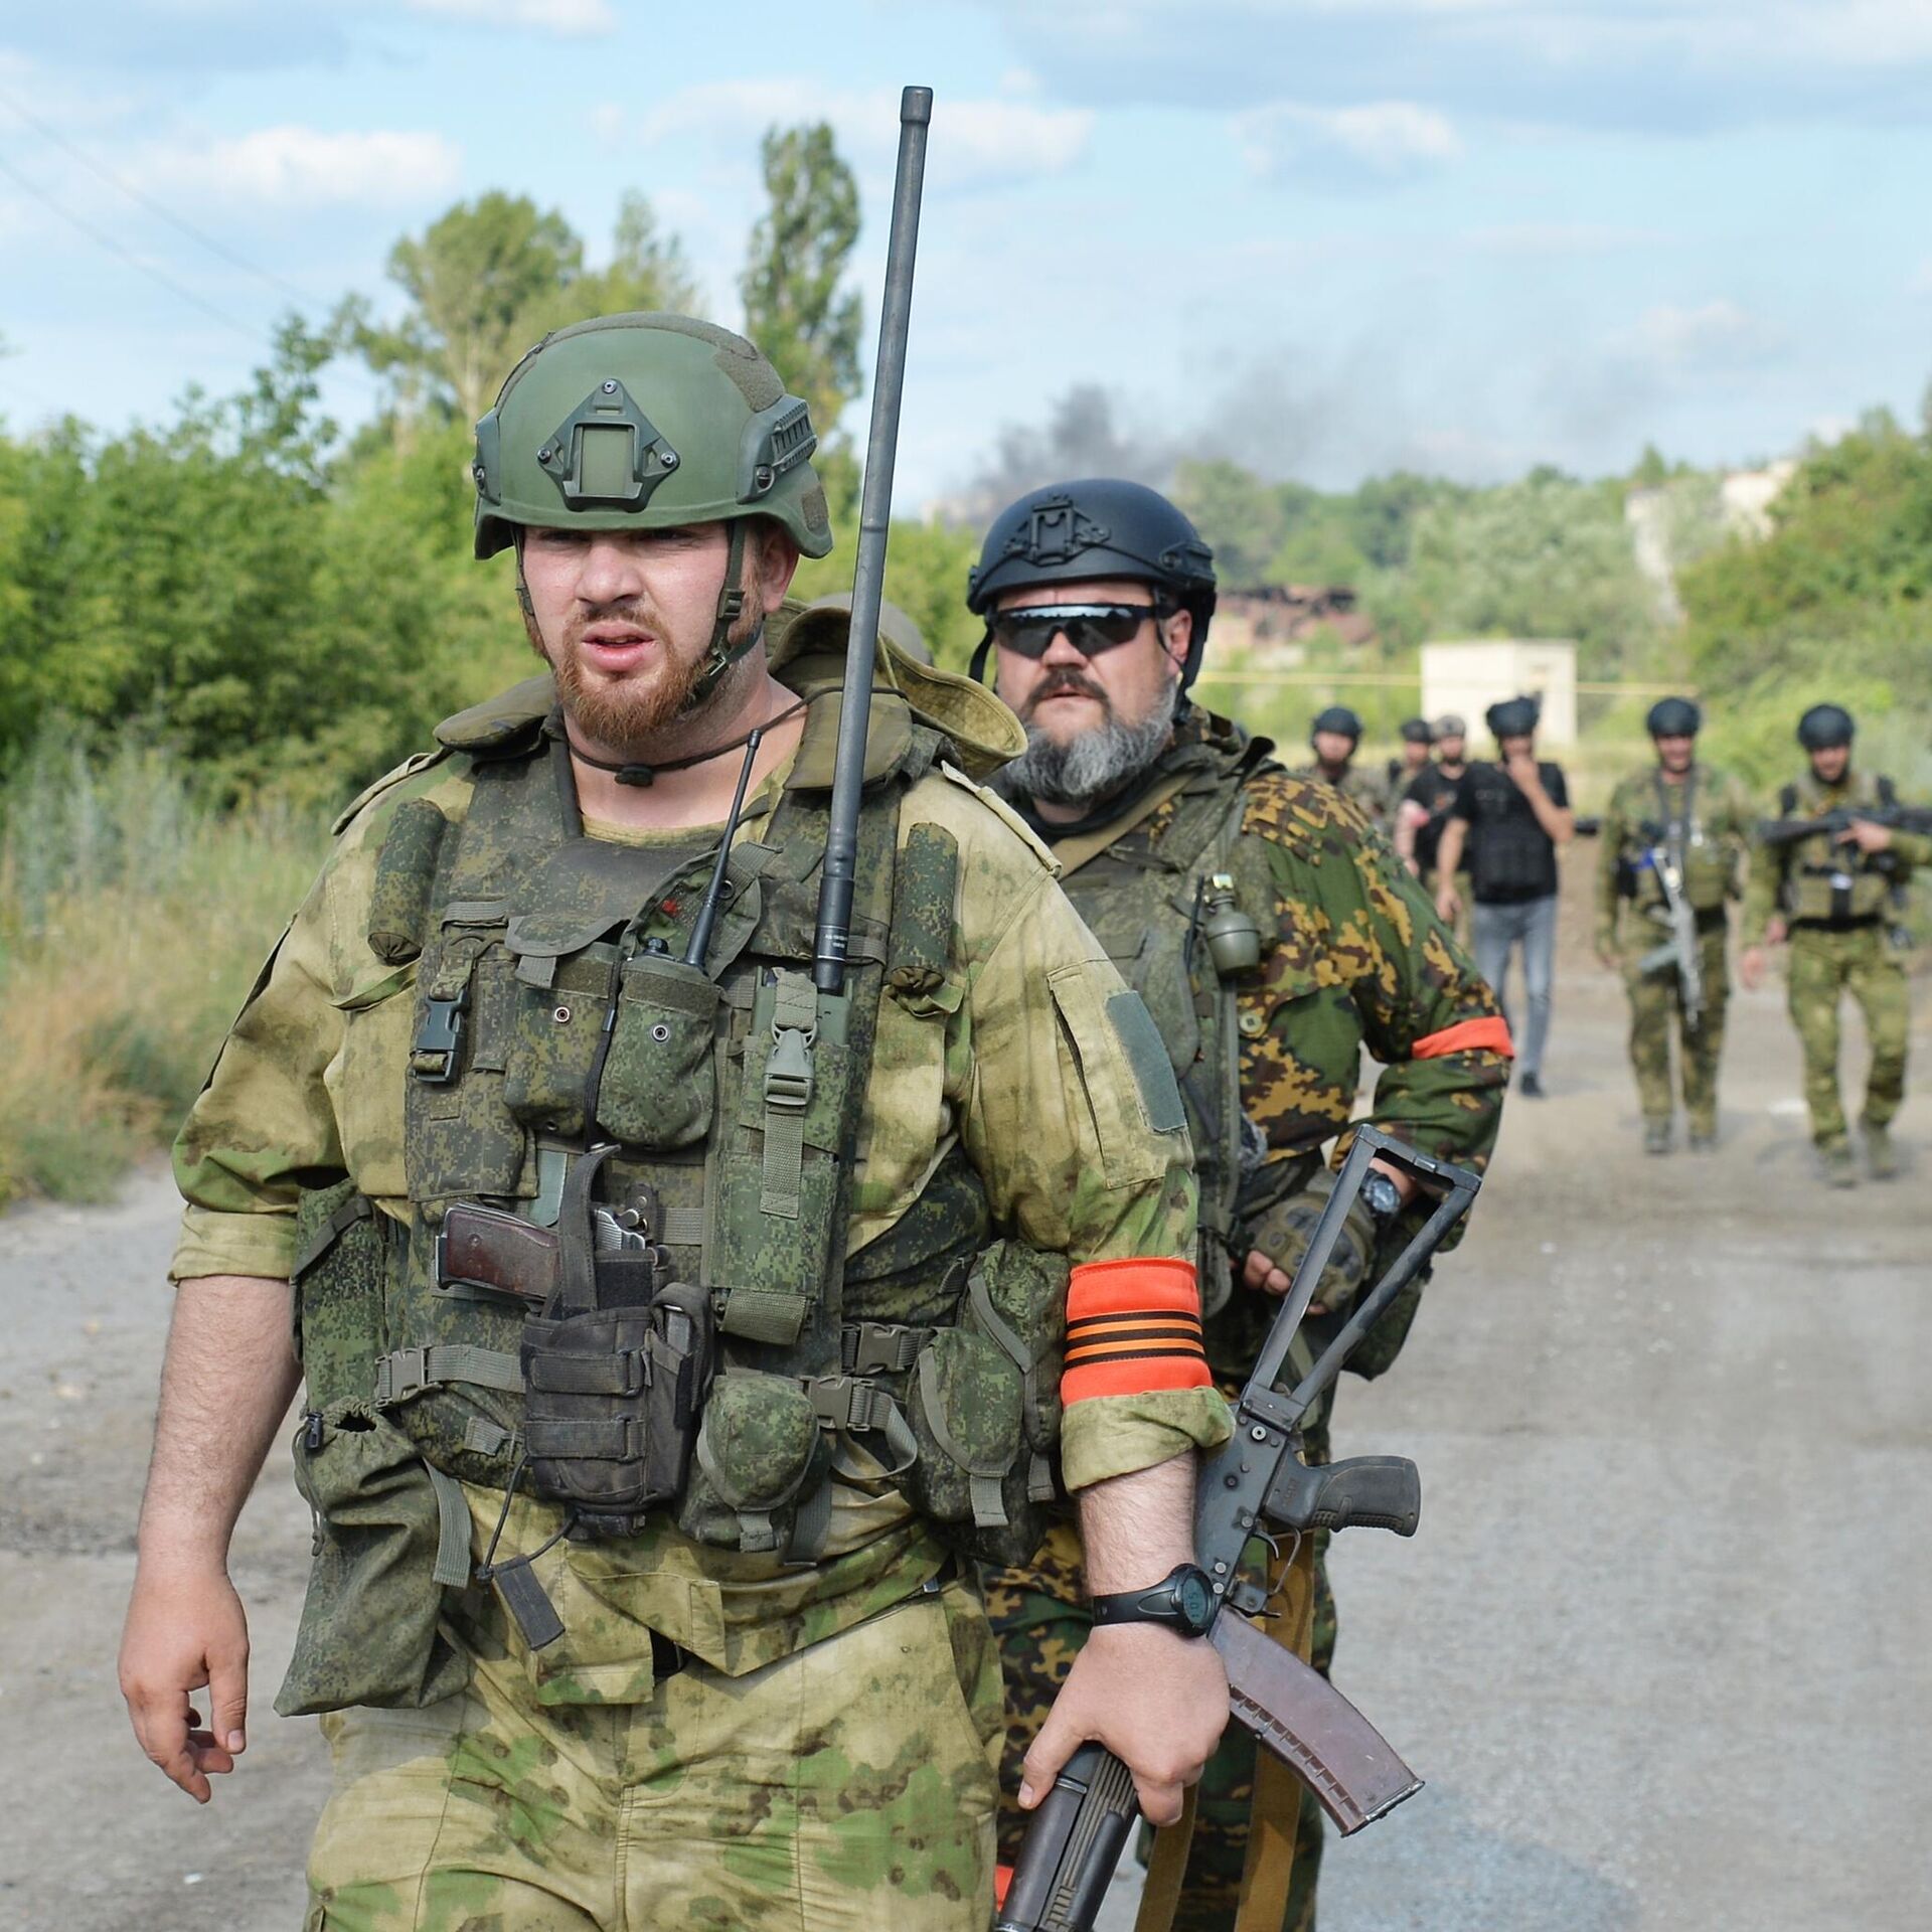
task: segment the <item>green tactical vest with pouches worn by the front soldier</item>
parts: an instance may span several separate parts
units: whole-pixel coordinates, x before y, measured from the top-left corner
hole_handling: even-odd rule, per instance
[[[699,968],[680,954],[715,831],[585,838],[558,736],[456,748],[473,767],[464,821],[400,806],[371,896],[371,947],[415,960],[408,1227],[354,1182],[303,1204],[315,1426],[386,1416],[437,1472],[446,1517],[464,1507],[450,1478],[506,1488],[549,1466],[564,1488],[547,1493],[568,1503],[574,1466],[589,1482],[630,1457],[643,1505],[674,1509],[688,1536],[811,1561],[838,1468],[889,1478],[976,1553],[1030,1553],[1053,1493],[1065,1260],[993,1238],[958,1144],[887,1235],[844,1252],[879,1003],[931,1026],[958,1003],[956,844],[916,825],[898,848],[904,792],[945,740],[914,723],[866,790],[837,997],[811,980],[827,794],[786,788],[763,838],[732,848]],[[593,1194],[612,1252],[578,1331],[609,1343],[558,1354],[543,1341],[585,1294],[539,1316],[439,1236],[456,1204],[568,1233]],[[626,1269],[647,1293],[624,1291]],[[659,1426],[686,1435],[655,1466],[638,1435]],[[572,1520],[624,1534],[641,1511]],[[464,1563],[439,1563],[439,1580],[462,1582]]]

